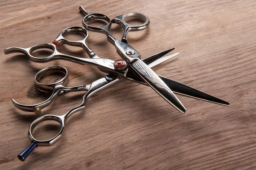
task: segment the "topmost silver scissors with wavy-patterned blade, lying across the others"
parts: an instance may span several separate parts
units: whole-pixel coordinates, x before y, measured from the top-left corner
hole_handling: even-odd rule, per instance
[[[86,29],[107,35],[108,41],[116,47],[117,53],[120,57],[122,57],[122,59],[124,59],[127,62],[129,68],[131,68],[135,74],[137,74],[140,78],[144,80],[144,82],[146,82],[151,88],[153,88],[154,91],[156,91],[160,96],[162,96],[163,99],[169,102],[181,113],[185,113],[186,108],[182,105],[177,96],[175,96],[171,89],[160,79],[160,77],[157,76],[157,74],[154,73],[153,70],[151,70],[151,68],[149,68],[142,60],[140,60],[140,53],[127,44],[126,34],[129,31],[129,29],[138,31],[145,29],[146,26],[148,26],[149,20],[146,15],[133,12],[129,14],[120,15],[112,21],[112,23],[118,23],[124,28],[125,38],[123,37],[122,40],[124,41],[122,42],[116,40],[114,37],[111,36],[111,34],[109,34],[109,30],[111,28],[111,19],[107,15],[99,13],[88,13],[86,10],[84,10],[82,6],[80,6],[79,9],[85,14],[82,24]],[[140,26],[132,27],[130,24],[127,24],[125,22],[125,19],[128,17],[138,17],[138,19],[144,20],[145,23],[143,23]],[[105,20],[108,22],[108,24],[102,27],[90,26],[87,24],[87,21],[95,19]]]

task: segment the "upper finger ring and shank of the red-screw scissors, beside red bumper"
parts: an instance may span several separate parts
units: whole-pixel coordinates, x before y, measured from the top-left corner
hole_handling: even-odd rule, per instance
[[[76,40],[76,41],[67,40],[65,38],[65,35],[70,34],[72,32],[80,32],[80,33],[84,34],[85,37],[82,40]],[[69,27],[69,28],[66,28],[63,31],[61,31],[61,33],[58,34],[58,37],[52,42],[52,44],[56,45],[57,47],[59,45],[61,45],[62,43],[67,44],[67,45],[82,47],[87,52],[87,54],[89,55],[90,58],[99,58],[86,45],[88,37],[89,37],[89,32],[84,27],[79,27],[79,26]]]

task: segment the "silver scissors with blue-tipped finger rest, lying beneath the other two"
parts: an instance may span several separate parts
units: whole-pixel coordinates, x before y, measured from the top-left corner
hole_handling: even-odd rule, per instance
[[[175,57],[176,55],[177,54],[172,55],[172,57]],[[154,67],[155,65],[158,65],[172,57],[166,56],[161,59],[157,59],[156,61],[151,62],[151,64],[149,66]],[[49,72],[52,72],[52,71],[53,72],[62,72],[65,74],[65,76],[61,80],[54,82],[54,83],[50,83],[50,84],[42,84],[42,83],[38,82],[38,79],[40,79],[41,76],[44,76],[45,74],[48,74]],[[28,133],[29,139],[31,140],[32,143],[29,145],[29,147],[27,147],[22,153],[20,153],[18,155],[18,159],[20,159],[21,161],[25,161],[27,156],[29,156],[29,153],[31,153],[32,150],[35,149],[35,147],[51,146],[52,144],[54,144],[55,142],[60,140],[62,137],[62,133],[63,133],[67,119],[73,113],[76,113],[76,112],[84,109],[86,102],[88,101],[88,99],[90,99],[90,96],[92,96],[94,93],[96,93],[97,91],[100,91],[103,88],[106,88],[108,86],[111,86],[113,84],[116,84],[117,82],[121,82],[122,80],[124,80],[124,79],[118,79],[114,75],[108,74],[107,76],[92,82],[90,85],[79,85],[79,86],[67,88],[64,86],[67,83],[67,75],[68,75],[67,69],[65,67],[59,66],[59,65],[50,66],[50,67],[42,69],[35,75],[35,84],[42,91],[52,91],[52,95],[49,97],[49,99],[47,99],[45,102],[42,102],[42,103],[39,103],[36,105],[20,105],[20,104],[16,105],[15,104],[15,106],[17,108],[20,108],[21,110],[32,111],[32,109],[33,109],[33,111],[35,112],[35,109],[37,109],[37,111],[38,112],[40,111],[40,113],[41,113],[41,109],[45,108],[47,105],[50,105],[54,96],[62,96],[64,94],[66,94],[67,92],[71,92],[71,91],[87,91],[87,93],[84,94],[84,96],[82,98],[81,104],[76,107],[70,108],[70,110],[67,113],[65,113],[64,115],[61,115],[61,116],[45,115],[45,116],[39,117],[34,122],[32,122],[32,124],[29,127],[29,133]],[[35,139],[35,137],[32,135],[34,128],[41,122],[49,121],[49,120],[56,121],[61,125],[61,129],[60,129],[59,133],[52,139],[48,139],[48,140],[44,140],[44,141]]]

